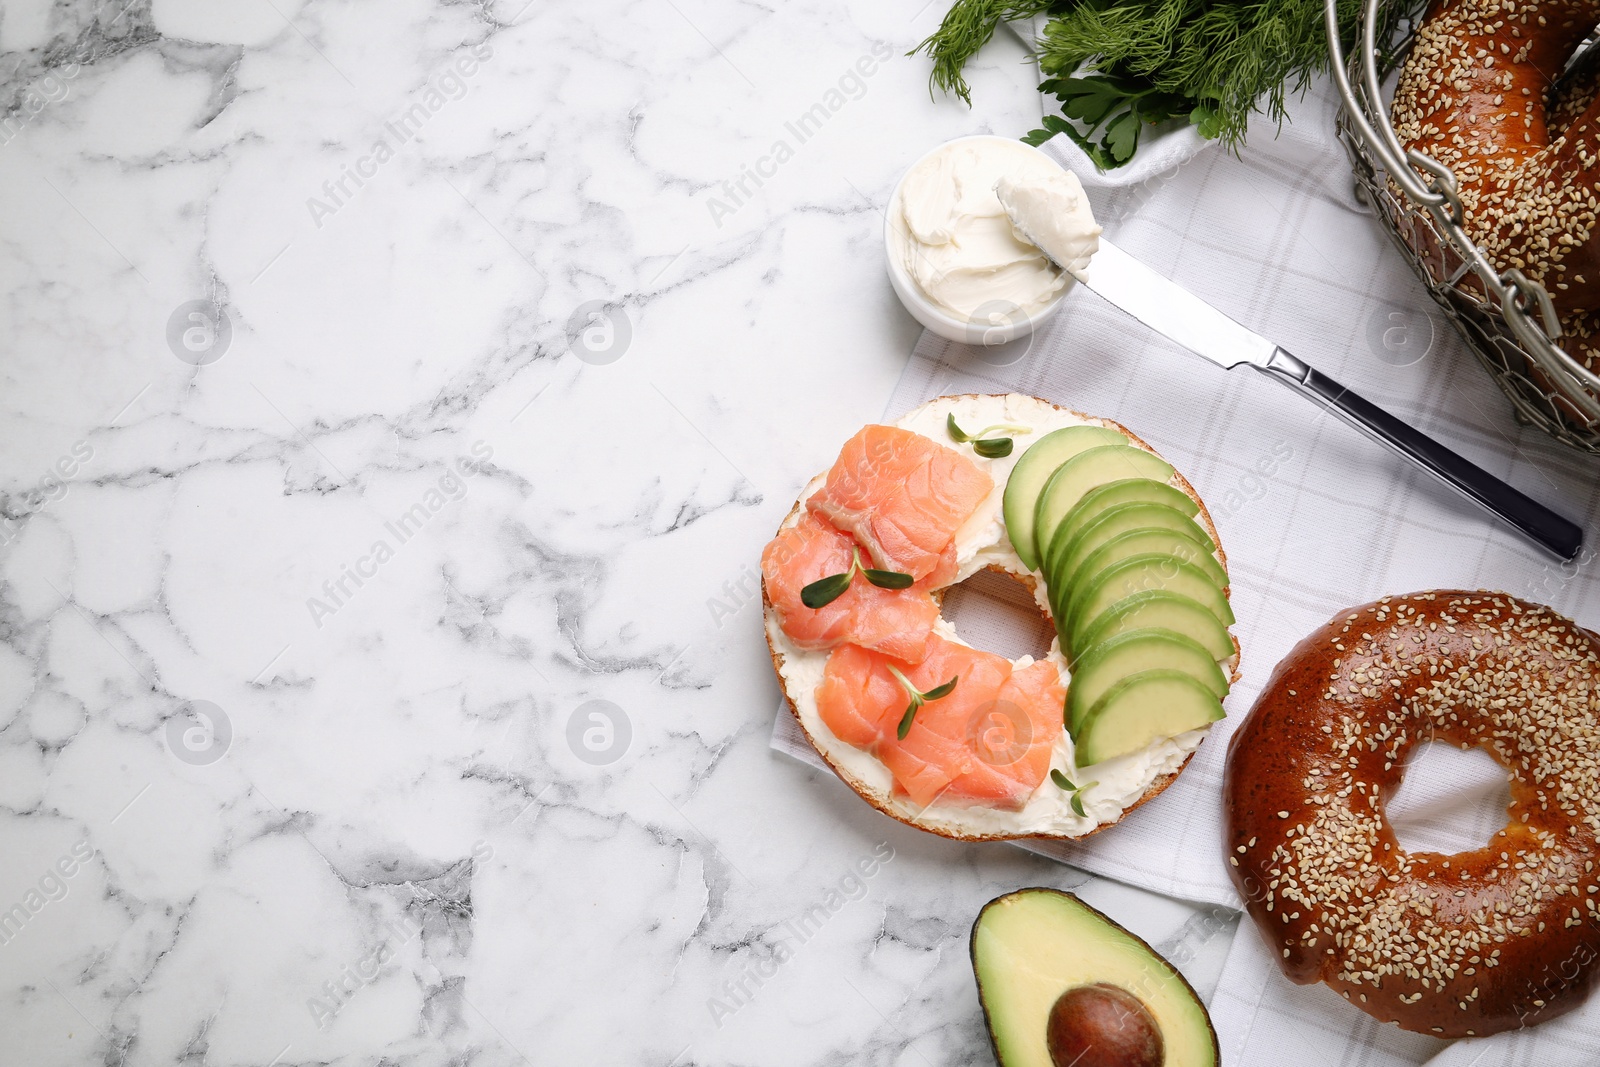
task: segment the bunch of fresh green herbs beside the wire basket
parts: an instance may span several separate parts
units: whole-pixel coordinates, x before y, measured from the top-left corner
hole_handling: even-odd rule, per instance
[[[1354,46],[1362,0],[1339,0]],[[1382,0],[1378,40],[1394,38],[1419,0]],[[933,59],[930,86],[971,104],[962,69],[1000,22],[1046,13],[1040,91],[1059,115],[1024,141],[1064,133],[1101,170],[1133,158],[1144,126],[1184,120],[1238,149],[1250,115],[1283,122],[1290,93],[1328,67],[1322,0],[955,0],[915,51]]]

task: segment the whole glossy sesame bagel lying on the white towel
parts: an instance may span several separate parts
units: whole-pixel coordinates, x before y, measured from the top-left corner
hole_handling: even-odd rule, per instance
[[[1294,982],[1437,1037],[1581,1003],[1600,957],[1600,638],[1488,592],[1386,597],[1278,664],[1229,747],[1229,870]],[[1510,773],[1485,848],[1406,853],[1384,816],[1408,753]]]

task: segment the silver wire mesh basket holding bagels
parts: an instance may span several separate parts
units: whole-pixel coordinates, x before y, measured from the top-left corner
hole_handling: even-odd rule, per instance
[[[1400,144],[1382,85],[1410,40],[1379,48],[1378,3],[1365,2],[1357,45],[1344,56],[1339,0],[1325,0],[1333,78],[1342,98],[1336,131],[1357,190],[1510,398],[1517,421],[1600,454],[1600,378],[1562,350],[1549,293],[1520,270],[1496,270],[1462,227],[1456,176]]]

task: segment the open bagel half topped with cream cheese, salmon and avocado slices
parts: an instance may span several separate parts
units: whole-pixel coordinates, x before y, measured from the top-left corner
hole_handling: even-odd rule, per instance
[[[986,568],[1054,624],[1042,659],[971,648],[939,614]],[[816,752],[878,811],[958,840],[1115,824],[1176,779],[1237,680],[1194,488],[1115,422],[1022,394],[856,434],[766,545],[762,593]]]

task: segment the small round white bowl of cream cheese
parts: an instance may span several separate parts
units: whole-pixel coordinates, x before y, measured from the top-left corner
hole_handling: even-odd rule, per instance
[[[890,278],[918,322],[954,341],[1000,344],[1024,336],[1056,310],[1070,285],[1070,275],[1013,224],[997,187],[1034,208],[1050,235],[1085,264],[1099,234],[1077,178],[1021,141],[958,138],[922,157],[890,198]]]

